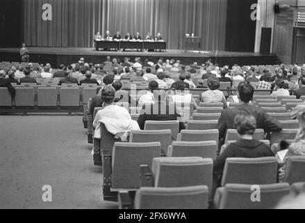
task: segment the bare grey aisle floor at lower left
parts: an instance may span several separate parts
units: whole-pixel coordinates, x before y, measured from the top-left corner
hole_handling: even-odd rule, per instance
[[[0,208],[117,208],[101,197],[81,116],[0,116]],[[52,201],[42,201],[51,185]]]

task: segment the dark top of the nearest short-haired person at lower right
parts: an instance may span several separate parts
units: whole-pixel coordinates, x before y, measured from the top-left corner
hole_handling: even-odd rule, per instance
[[[267,156],[274,156],[274,153],[265,143],[256,139],[240,139],[227,146],[222,154],[217,157],[213,164],[213,174],[222,174],[226,158],[228,157],[256,158]]]

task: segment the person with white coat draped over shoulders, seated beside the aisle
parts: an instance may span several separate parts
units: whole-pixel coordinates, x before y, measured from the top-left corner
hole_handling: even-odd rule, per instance
[[[93,121],[94,138],[101,138],[100,123],[104,123],[108,132],[115,134],[115,137],[122,141],[127,141],[131,130],[140,130],[136,121],[131,119],[131,115],[126,108],[114,105],[115,89],[113,86],[105,86],[101,91],[103,109],[97,112]]]

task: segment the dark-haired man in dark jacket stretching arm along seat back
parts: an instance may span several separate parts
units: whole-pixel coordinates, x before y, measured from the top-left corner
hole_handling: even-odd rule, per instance
[[[263,109],[249,105],[252,100],[254,88],[247,82],[238,84],[238,98],[240,106],[235,108],[224,109],[217,123],[220,139],[226,136],[226,130],[234,128],[234,118],[236,114],[248,114],[256,118],[256,128],[263,128],[265,132],[280,132],[282,125],[277,119],[269,116]]]

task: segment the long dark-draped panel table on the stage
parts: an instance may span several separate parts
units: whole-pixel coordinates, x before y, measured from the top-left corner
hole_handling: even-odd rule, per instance
[[[116,41],[116,40],[94,40],[95,49],[144,49],[164,50],[166,51],[166,42],[164,41]]]

